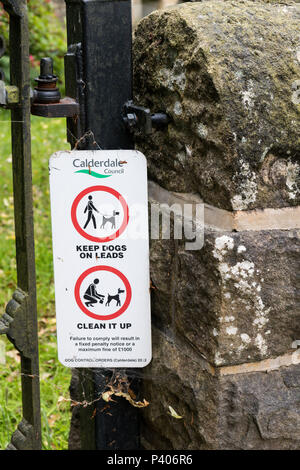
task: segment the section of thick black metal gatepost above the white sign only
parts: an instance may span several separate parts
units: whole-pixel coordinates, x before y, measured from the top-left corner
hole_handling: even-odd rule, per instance
[[[93,133],[84,148],[131,149],[133,139],[120,119],[123,104],[132,97],[131,1],[66,0],[66,4],[68,45],[81,44],[82,49],[81,133]]]

